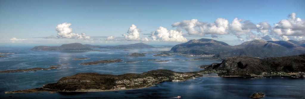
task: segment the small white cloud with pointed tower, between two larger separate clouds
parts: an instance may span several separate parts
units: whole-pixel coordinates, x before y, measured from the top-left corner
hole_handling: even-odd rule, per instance
[[[128,29],[128,34],[123,34],[122,36],[125,37],[125,40],[127,41],[143,41],[147,42],[149,41],[148,38],[140,38],[140,29],[137,28],[135,25],[131,25],[131,27]]]

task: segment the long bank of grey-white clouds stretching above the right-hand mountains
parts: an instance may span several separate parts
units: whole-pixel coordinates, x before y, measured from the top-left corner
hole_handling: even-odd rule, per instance
[[[241,41],[263,40],[302,40],[305,39],[305,20],[289,14],[290,19],[282,19],[274,27],[265,21],[254,24],[249,20],[235,18],[229,24],[227,19],[217,18],[212,23],[200,22],[198,19],[184,20],[172,24],[177,29],[184,29],[188,35],[234,35]]]

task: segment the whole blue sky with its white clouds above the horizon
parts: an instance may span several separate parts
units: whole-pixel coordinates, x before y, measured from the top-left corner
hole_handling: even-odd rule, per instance
[[[304,0],[0,0],[0,46],[304,40],[304,5]]]

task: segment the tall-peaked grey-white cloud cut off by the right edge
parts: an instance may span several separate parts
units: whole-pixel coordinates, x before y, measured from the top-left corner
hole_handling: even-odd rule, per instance
[[[305,36],[305,20],[296,17],[296,13],[289,14],[290,19],[282,19],[274,24],[272,33],[282,36]]]

